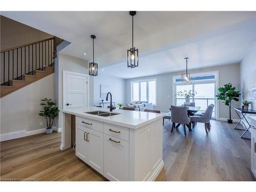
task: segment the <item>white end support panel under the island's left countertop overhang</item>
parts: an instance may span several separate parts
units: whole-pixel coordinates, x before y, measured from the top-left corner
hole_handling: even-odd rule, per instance
[[[60,150],[66,150],[71,147],[71,114],[62,113],[62,131]]]

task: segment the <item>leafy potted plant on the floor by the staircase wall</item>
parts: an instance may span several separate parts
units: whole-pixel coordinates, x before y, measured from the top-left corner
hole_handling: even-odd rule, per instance
[[[52,124],[55,117],[57,117],[59,113],[59,109],[55,106],[56,103],[52,101],[52,99],[42,99],[42,103],[40,105],[44,106],[44,111],[40,111],[39,115],[44,117],[47,122],[46,134],[52,133]]]

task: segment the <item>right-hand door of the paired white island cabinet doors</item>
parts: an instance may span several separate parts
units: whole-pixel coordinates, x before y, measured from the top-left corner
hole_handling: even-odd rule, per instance
[[[104,134],[88,129],[88,164],[103,175]]]

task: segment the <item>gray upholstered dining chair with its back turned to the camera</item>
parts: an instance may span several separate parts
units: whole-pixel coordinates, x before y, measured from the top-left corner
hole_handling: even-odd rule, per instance
[[[172,116],[172,131],[174,130],[175,123],[178,123],[177,127],[179,127],[180,124],[183,124],[184,128],[184,134],[186,134],[186,125],[188,127],[188,130],[191,131],[191,123],[190,118],[187,116],[187,107],[186,106],[170,106],[170,112]]]

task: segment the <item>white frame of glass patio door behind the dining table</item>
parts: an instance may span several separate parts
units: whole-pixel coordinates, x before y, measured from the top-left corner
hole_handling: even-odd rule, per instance
[[[206,84],[206,83],[215,83],[215,93],[218,93],[218,88],[219,88],[219,71],[209,71],[209,72],[202,72],[202,73],[193,73],[190,74],[191,76],[197,76],[197,75],[208,75],[208,74],[213,74],[215,75],[215,79],[206,79],[206,80],[195,80],[191,81],[191,85],[194,86],[195,84]],[[180,75],[173,76],[173,104],[176,105],[176,86],[182,86],[184,85],[184,82],[175,82],[176,78],[180,77]],[[194,97],[193,97],[193,102],[194,102]],[[215,118],[219,120],[219,100],[215,97]]]

